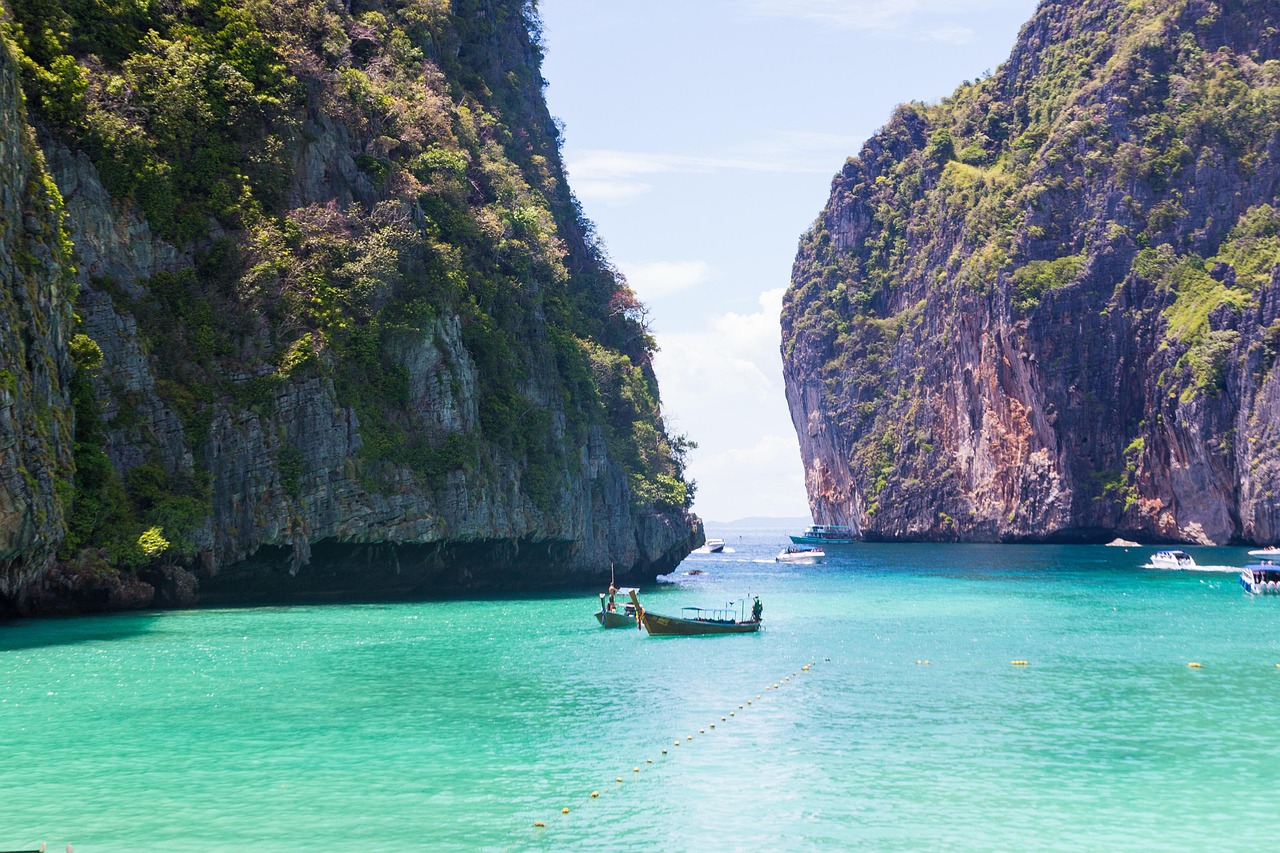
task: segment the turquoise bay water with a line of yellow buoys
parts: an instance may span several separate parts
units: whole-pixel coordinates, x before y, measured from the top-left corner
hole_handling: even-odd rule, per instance
[[[590,593],[3,625],[0,849],[1276,845],[1280,597],[1151,549],[709,533],[645,603],[756,593],[765,631],[604,631]]]

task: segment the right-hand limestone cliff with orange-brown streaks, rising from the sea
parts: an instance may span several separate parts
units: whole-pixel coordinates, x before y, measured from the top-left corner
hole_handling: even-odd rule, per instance
[[[845,164],[782,314],[817,520],[1280,537],[1277,18],[1046,0]]]

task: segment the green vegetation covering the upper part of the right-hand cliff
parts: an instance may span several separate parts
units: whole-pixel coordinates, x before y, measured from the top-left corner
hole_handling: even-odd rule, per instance
[[[972,380],[956,318],[1014,347],[1149,324],[1166,398],[1224,389],[1280,264],[1275,23],[1266,4],[1041,4],[993,76],[900,106],[845,164],[801,238],[783,353],[824,380],[869,507],[955,475],[915,432],[923,398]],[[1046,355],[1055,379],[1098,366]],[[1123,447],[1094,452],[1128,475]]]

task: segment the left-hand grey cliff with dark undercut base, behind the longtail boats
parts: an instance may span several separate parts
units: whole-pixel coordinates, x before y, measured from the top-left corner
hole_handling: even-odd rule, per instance
[[[0,612],[639,580],[701,544],[641,311],[564,182],[531,6],[419,5],[260,4],[207,42],[223,24],[180,10],[108,45],[64,20],[74,123],[38,76],[28,117],[0,68]],[[197,36],[166,41],[179,24]],[[218,54],[246,28],[257,64]],[[143,73],[180,51],[209,78]],[[202,97],[180,127],[216,138],[164,160],[164,99]],[[137,140],[169,172],[119,154]],[[101,350],[74,423],[72,260]]]

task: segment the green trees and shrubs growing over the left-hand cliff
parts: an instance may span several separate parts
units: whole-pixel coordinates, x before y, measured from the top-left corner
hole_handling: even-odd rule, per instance
[[[42,132],[191,261],[90,284],[137,319],[196,469],[115,470],[104,434],[131,428],[129,397],[101,423],[82,360],[64,551],[192,557],[215,412],[270,415],[310,379],[355,411],[374,492],[404,471],[484,488],[516,460],[549,514],[598,428],[634,508],[689,507],[643,309],[564,184],[532,3],[4,0],[0,18]],[[453,365],[476,411],[461,425],[411,400],[413,353],[448,350],[451,323],[479,378]],[[275,462],[298,500],[306,460],[285,444]]]

